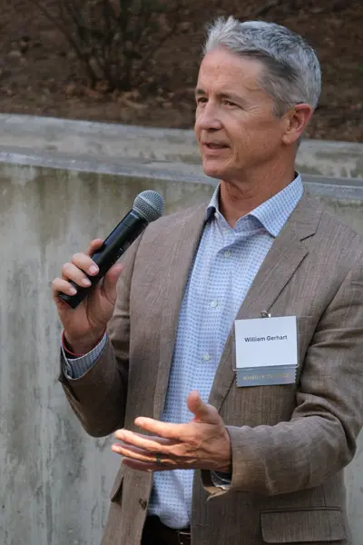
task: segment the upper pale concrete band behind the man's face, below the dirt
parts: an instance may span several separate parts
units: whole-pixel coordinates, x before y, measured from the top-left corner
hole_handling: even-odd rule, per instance
[[[0,149],[23,148],[27,153],[67,154],[122,164],[125,160],[199,164],[194,135],[189,130],[101,124],[0,114]],[[304,140],[299,148],[301,173],[363,178],[363,144]]]

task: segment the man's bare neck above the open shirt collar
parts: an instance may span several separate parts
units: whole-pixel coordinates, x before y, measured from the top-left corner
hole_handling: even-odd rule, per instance
[[[275,173],[255,173],[238,180],[222,180],[220,210],[226,221],[234,228],[240,217],[280,193],[295,178],[294,165]]]

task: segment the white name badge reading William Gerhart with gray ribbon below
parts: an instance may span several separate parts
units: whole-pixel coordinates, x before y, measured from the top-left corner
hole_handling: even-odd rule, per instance
[[[296,381],[296,316],[234,322],[237,386],[268,386]]]

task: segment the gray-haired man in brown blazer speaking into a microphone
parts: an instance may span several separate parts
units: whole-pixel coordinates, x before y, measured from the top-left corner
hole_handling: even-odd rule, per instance
[[[288,29],[232,17],[211,25],[204,53],[195,134],[204,172],[221,180],[211,203],[150,224],[75,310],[58,292],[87,285],[101,241],[53,283],[64,391],[123,456],[103,544],[347,545],[363,245],[294,170],[319,62]],[[237,324],[259,332],[284,317],[297,322],[286,362],[272,343],[265,362],[240,358]],[[269,378],[272,352],[290,376],[294,350],[296,379]],[[255,385],[236,380],[240,366]]]

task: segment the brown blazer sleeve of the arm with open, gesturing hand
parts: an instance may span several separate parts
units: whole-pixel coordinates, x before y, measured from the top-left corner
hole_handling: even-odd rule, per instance
[[[231,490],[265,495],[319,486],[352,460],[363,417],[363,271],[350,270],[322,314],[303,362],[297,405],[274,426],[228,427]]]

